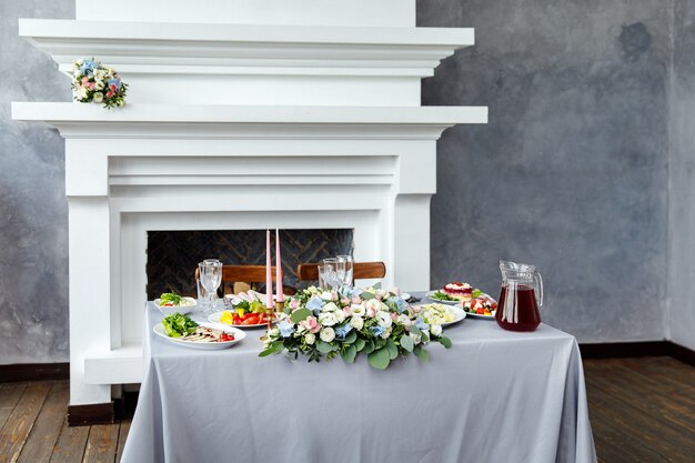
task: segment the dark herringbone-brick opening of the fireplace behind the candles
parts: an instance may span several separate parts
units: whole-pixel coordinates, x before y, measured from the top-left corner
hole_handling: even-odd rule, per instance
[[[282,269],[285,286],[306,288],[316,282],[300,282],[300,263],[352,254],[352,229],[281,230]],[[149,231],[147,249],[148,299],[174,291],[197,295],[195,268],[203,259],[214,258],[224,264],[264,265],[265,230]],[[274,244],[273,244],[273,265]],[[264,284],[259,285],[264,291]],[[231,289],[224,289],[230,292]]]

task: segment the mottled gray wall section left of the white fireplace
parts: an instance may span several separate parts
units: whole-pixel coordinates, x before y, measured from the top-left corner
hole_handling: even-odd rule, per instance
[[[11,101],[69,101],[70,81],[18,18],[74,18],[72,0],[0,1],[0,364],[68,361],[63,141],[11,120]]]

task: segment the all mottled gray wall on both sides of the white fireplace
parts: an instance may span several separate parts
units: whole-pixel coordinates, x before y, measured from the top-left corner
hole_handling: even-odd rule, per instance
[[[490,124],[440,142],[433,286],[463,279],[495,294],[498,259],[531,262],[545,276],[546,321],[580,341],[671,329],[693,346],[693,6],[421,0],[417,13],[420,26],[477,36],[424,81],[423,103],[491,110]],[[73,14],[72,0],[0,2],[0,363],[68,360],[63,143],[11,121],[9,102],[70,99],[51,60],[17,37],[17,18]]]

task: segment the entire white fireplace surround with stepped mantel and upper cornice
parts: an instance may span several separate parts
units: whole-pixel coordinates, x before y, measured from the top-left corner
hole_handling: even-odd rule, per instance
[[[170,0],[143,22],[162,2],[128,0],[111,22],[82,0],[74,21],[20,20],[62,71],[93,56],[130,83],[123,109],[12,104],[66,139],[71,405],[141,379],[148,231],[354,229],[355,259],[384,261],[385,284],[427,289],[436,140],[487,120],[420,107],[420,79],[473,31],[415,28],[414,1],[384,0],[390,17],[366,0],[304,16],[296,0],[208,16]]]

